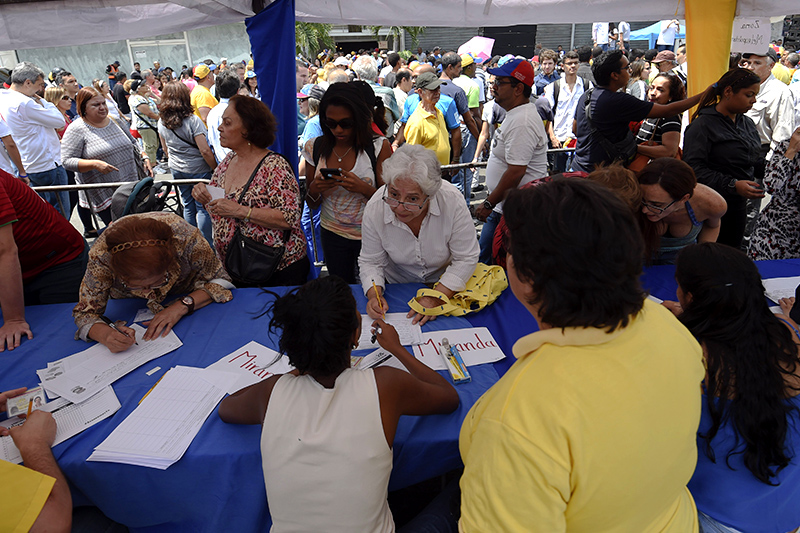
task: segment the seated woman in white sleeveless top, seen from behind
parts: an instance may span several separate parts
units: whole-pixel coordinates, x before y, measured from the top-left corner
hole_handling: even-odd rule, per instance
[[[338,276],[293,289],[267,313],[269,330],[281,331],[280,352],[296,370],[225,398],[219,416],[228,423],[262,425],[273,530],[393,532],[386,497],[398,420],[450,413],[458,407],[458,394],[407,352],[395,329],[380,319],[373,333],[408,372],[350,368],[361,316],[350,287]]]

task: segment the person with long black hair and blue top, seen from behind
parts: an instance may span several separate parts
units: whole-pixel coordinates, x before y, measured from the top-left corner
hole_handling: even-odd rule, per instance
[[[798,325],[770,311],[756,264],[734,248],[687,246],[675,279],[678,302],[664,305],[703,346],[707,366],[689,482],[701,531],[797,531]]]

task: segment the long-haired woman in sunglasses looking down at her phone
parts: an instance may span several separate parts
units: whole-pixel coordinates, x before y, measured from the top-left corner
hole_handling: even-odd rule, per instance
[[[306,203],[321,207],[320,235],[328,272],[357,283],[364,207],[383,185],[392,149],[372,129],[372,108],[351,83],[331,85],[319,104],[322,136],[306,143]]]

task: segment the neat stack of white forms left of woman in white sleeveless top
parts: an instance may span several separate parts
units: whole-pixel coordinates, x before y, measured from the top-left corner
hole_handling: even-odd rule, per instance
[[[171,369],[87,460],[167,469],[238,378],[213,369]]]

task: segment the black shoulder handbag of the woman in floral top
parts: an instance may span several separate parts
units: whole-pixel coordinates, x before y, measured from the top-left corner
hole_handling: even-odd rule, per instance
[[[256,177],[264,160],[270,155],[265,155],[264,159],[256,165],[253,175],[247,180],[247,184],[242,189],[242,194],[239,195],[239,203],[244,199],[245,193],[250,188],[250,184],[253,178]],[[272,247],[243,235],[240,223],[237,222],[233,239],[231,239],[228,251],[225,254],[225,270],[228,271],[233,283],[237,287],[266,285],[278,268],[281,259],[283,259],[283,253],[286,250],[286,243],[289,242],[291,232],[291,229],[283,232],[283,246]]]

